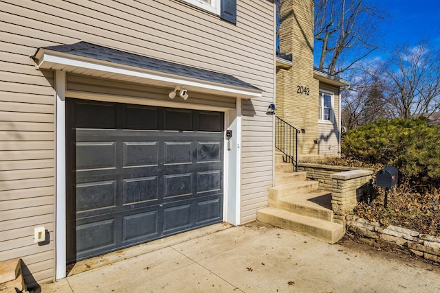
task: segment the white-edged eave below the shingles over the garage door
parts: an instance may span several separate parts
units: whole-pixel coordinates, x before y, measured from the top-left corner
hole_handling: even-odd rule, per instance
[[[219,82],[210,82],[178,74],[164,73],[161,71],[124,65],[117,62],[109,62],[107,60],[78,56],[76,54],[69,54],[63,51],[55,51],[47,48],[38,49],[32,58],[34,58],[38,69],[61,70],[68,73],[89,75],[96,78],[109,78],[112,80],[148,84],[150,86],[169,87],[172,89],[176,86],[180,86],[188,91],[195,91],[208,95],[212,94],[252,99],[261,97],[263,93],[263,90],[257,89],[254,86],[252,86],[252,89],[250,88],[251,86],[234,86]],[[187,68],[197,70],[194,67]],[[203,71],[203,69],[199,70]],[[217,75],[223,74],[212,73]]]

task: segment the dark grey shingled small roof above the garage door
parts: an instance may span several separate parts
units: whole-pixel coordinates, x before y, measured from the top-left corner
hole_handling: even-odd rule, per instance
[[[52,51],[64,52],[76,56],[93,58],[108,62],[117,63],[120,65],[129,65],[142,69],[158,71],[162,73],[170,73],[173,75],[180,75],[186,78],[195,78],[197,80],[205,80],[208,82],[216,82],[219,84],[227,84],[230,86],[238,86],[245,89],[260,90],[252,84],[243,82],[229,74],[218,73],[206,69],[199,69],[186,65],[180,65],[173,62],[141,56],[126,51],[111,49],[109,47],[102,47],[87,42],[79,42],[72,45],[58,45],[43,47]]]

